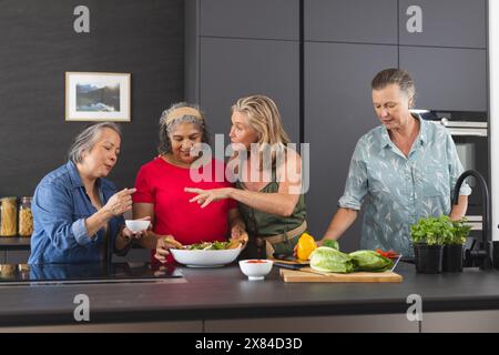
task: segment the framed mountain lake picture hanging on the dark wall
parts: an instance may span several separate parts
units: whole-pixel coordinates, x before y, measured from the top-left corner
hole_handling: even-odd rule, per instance
[[[130,73],[65,72],[67,121],[130,121]]]

